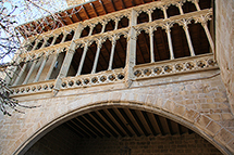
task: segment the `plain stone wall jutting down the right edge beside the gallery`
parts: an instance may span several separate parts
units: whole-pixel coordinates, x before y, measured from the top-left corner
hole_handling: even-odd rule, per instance
[[[234,1],[215,0],[215,48],[222,80],[234,114]]]

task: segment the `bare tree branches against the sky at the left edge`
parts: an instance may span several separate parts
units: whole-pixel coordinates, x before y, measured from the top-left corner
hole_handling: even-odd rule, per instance
[[[65,8],[66,2],[63,0],[0,0],[0,109],[3,114],[10,116],[11,109],[24,113],[17,108],[20,106],[36,107],[21,105],[17,100],[11,98],[12,90],[4,78],[11,79],[14,67],[28,63],[16,60],[32,46],[30,42],[23,41],[29,37],[36,39],[45,31],[45,25],[49,24],[52,29],[61,27],[62,16],[57,12]],[[30,26],[25,26],[24,23],[28,22],[32,23]]]

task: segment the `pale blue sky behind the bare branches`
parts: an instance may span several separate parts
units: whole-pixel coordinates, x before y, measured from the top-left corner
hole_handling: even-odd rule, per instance
[[[0,10],[5,8],[5,14],[12,12],[15,5],[17,7],[13,12],[13,16],[11,16],[11,18],[13,18],[12,21],[16,21],[13,27],[47,16],[49,12],[54,13],[67,8],[65,0],[32,0],[36,5],[25,1],[26,0],[0,0]],[[9,34],[0,27],[0,38],[5,38]],[[0,39],[0,41],[3,42],[4,40]],[[4,52],[4,49],[0,47],[0,55]],[[11,61],[13,56],[13,54],[9,54],[4,59],[1,59],[0,64]]]

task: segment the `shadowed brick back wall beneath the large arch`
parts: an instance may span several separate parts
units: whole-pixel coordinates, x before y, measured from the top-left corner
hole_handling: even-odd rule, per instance
[[[200,135],[158,135],[140,138],[86,139],[78,142],[76,154],[81,155],[220,155],[221,153]],[[130,154],[126,154],[130,155]]]

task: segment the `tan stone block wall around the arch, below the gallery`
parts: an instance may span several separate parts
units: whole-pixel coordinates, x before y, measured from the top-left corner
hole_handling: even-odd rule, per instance
[[[234,153],[234,120],[220,70],[22,95],[26,115],[0,115],[0,154],[19,153],[45,130],[90,111],[111,106],[167,116],[199,132],[223,153]]]

